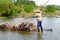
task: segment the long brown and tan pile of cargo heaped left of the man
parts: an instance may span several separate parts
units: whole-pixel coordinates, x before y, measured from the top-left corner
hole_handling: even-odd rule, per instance
[[[32,22],[22,22],[17,24],[0,23],[0,30],[32,31],[36,26]]]

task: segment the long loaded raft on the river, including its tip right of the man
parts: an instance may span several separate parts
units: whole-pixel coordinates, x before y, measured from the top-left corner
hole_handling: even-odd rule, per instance
[[[52,29],[43,29],[45,31],[52,31]],[[25,33],[37,33],[37,27],[33,22],[22,22],[17,24],[0,23],[0,31],[13,31]]]

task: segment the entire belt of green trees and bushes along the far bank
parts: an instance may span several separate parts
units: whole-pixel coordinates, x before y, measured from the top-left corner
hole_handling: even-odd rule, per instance
[[[17,14],[25,16],[25,14],[32,13],[37,8],[40,8],[46,14],[60,10],[58,5],[36,6],[35,2],[31,0],[0,0],[0,16],[9,17]]]

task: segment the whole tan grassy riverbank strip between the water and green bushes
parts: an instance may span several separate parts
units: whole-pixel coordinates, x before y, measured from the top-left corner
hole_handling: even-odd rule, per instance
[[[17,13],[15,15],[11,15],[9,17],[2,17],[0,16],[0,18],[3,18],[3,19],[6,19],[6,18],[17,18],[17,17],[23,17],[23,18],[30,18],[32,17],[34,13]],[[56,11],[54,13],[46,13],[46,12],[43,12],[42,13],[42,16],[47,16],[47,17],[60,17],[60,11]]]

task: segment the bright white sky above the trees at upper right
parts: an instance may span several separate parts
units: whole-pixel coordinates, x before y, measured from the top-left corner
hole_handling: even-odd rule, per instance
[[[40,5],[43,5],[47,0],[33,0],[35,1],[35,4],[40,6]],[[46,3],[46,5],[60,5],[60,0],[49,0],[48,3]]]

